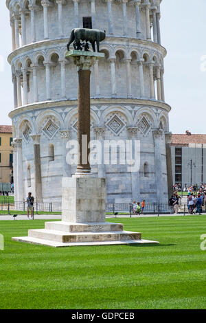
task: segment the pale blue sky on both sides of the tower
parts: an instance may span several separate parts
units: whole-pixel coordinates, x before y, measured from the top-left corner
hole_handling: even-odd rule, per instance
[[[172,107],[172,133],[206,133],[205,12],[205,0],[163,0],[161,4],[161,42],[168,51],[165,101]],[[13,89],[7,56],[12,38],[5,0],[0,3],[0,42],[0,124],[11,124],[8,113],[13,109]]]

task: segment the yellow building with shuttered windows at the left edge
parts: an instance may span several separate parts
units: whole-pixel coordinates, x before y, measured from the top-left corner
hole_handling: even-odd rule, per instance
[[[13,183],[12,126],[0,125],[0,192],[10,191],[11,183]]]

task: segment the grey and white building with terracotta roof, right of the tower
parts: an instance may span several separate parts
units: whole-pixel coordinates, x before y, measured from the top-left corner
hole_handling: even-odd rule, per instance
[[[181,187],[206,183],[206,135],[172,135],[173,183]]]

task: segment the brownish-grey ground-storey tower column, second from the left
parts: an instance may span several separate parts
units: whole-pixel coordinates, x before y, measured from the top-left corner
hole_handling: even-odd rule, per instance
[[[34,144],[34,187],[35,187],[35,201],[42,202],[42,178],[41,178],[41,149],[40,149],[40,139],[41,135],[30,135]]]

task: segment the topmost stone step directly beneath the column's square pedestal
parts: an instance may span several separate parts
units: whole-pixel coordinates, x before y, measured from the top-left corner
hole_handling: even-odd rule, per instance
[[[64,221],[46,222],[45,229],[64,232],[111,232],[123,231],[120,223],[72,223]]]

